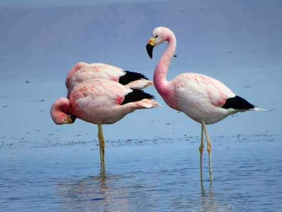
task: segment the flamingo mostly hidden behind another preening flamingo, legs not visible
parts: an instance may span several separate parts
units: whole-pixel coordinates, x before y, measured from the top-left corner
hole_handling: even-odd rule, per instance
[[[67,98],[75,85],[90,79],[107,79],[135,89],[143,89],[153,85],[153,82],[142,73],[125,71],[105,63],[79,62],[67,74],[65,83],[68,89]]]

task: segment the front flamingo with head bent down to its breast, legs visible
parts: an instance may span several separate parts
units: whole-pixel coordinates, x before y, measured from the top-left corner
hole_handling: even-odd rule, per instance
[[[77,84],[70,97],[59,98],[50,109],[56,124],[71,124],[75,118],[98,125],[101,165],[105,167],[103,124],[113,124],[136,109],[158,106],[153,95],[114,81],[91,79]]]

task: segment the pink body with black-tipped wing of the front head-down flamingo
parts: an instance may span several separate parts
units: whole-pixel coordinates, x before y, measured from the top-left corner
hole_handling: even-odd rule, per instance
[[[131,93],[138,97],[135,94],[128,95]],[[142,90],[130,89],[105,79],[84,81],[70,92],[73,114],[94,124],[113,124],[135,109],[157,106],[158,103],[150,100],[151,98],[152,95]]]

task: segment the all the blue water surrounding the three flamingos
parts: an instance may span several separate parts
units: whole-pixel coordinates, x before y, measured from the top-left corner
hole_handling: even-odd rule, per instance
[[[0,208],[3,211],[281,211],[282,4],[279,1],[0,1]],[[11,15],[13,14],[13,15]],[[166,15],[165,15],[166,14]],[[105,62],[152,79],[165,45],[149,59],[156,26],[171,28],[184,71],[211,75],[268,112],[209,125],[199,181],[200,125],[167,106],[104,126],[57,126],[76,62]],[[147,89],[165,105],[154,88]],[[165,114],[165,115],[164,115]]]

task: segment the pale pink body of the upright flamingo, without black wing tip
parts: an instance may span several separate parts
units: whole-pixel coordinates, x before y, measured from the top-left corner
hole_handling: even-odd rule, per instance
[[[238,111],[223,108],[226,100],[235,93],[220,81],[197,73],[182,73],[168,82],[171,93],[163,95],[172,108],[184,112],[198,123],[214,124]]]

